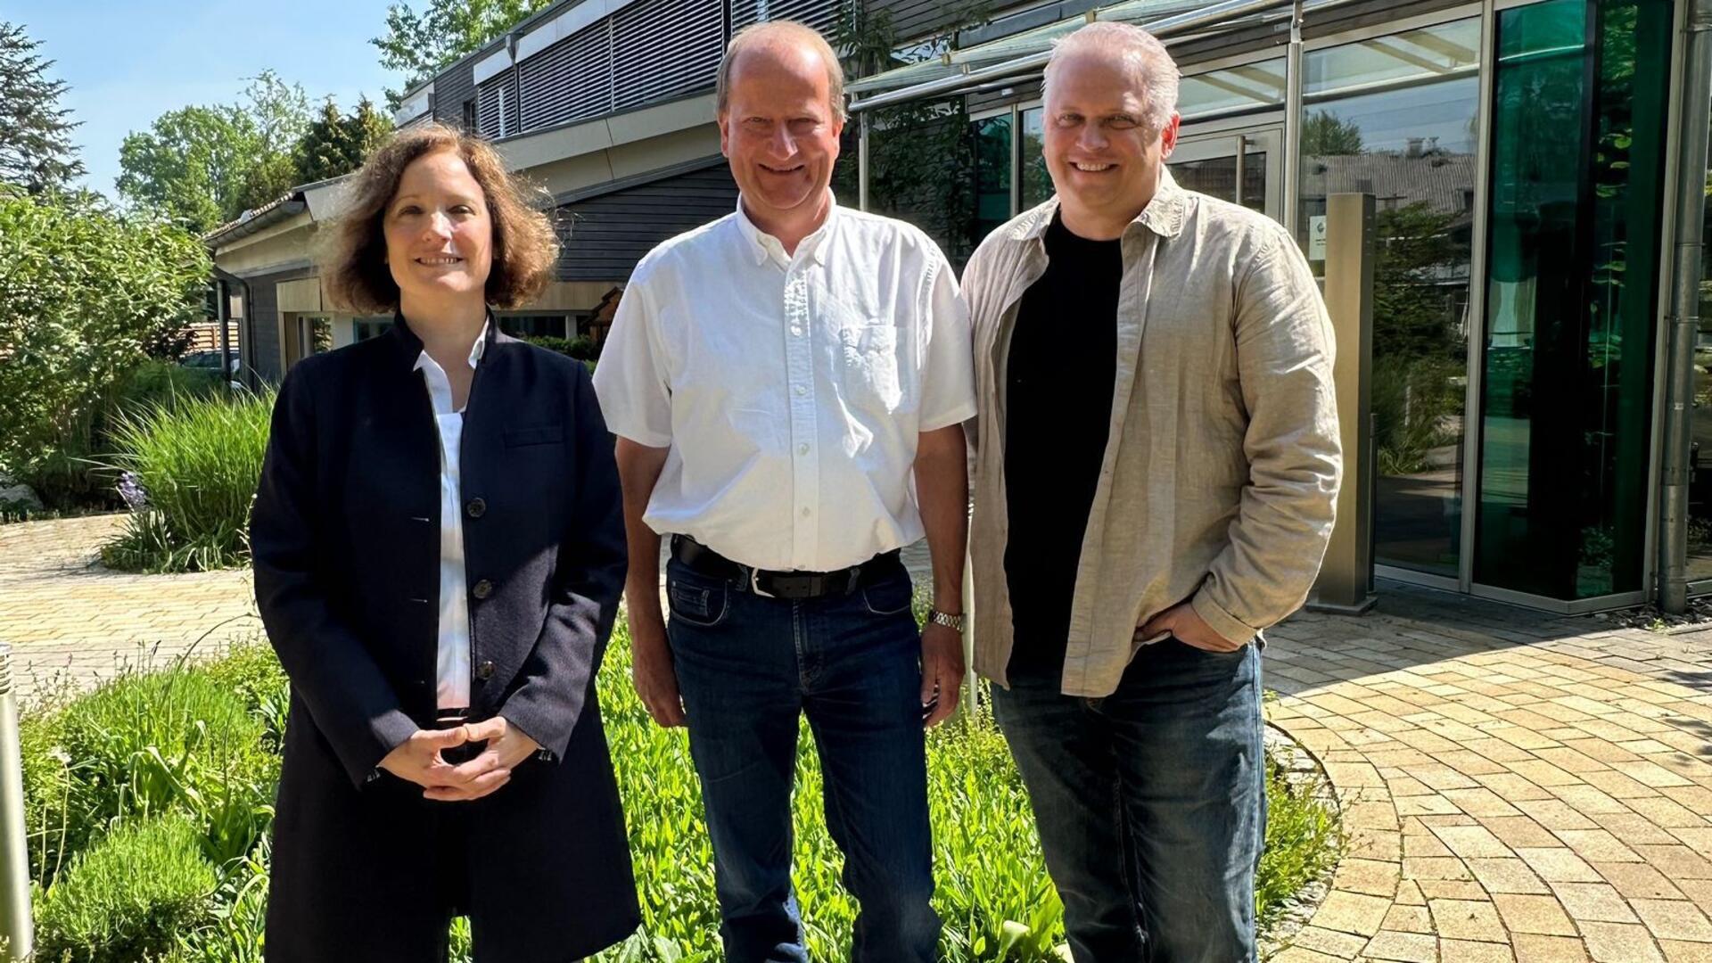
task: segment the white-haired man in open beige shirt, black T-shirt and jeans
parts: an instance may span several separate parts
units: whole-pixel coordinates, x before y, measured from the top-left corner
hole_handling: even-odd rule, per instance
[[[1255,958],[1257,641],[1306,598],[1342,468],[1313,276],[1171,180],[1176,87],[1137,27],[1061,41],[1056,197],[964,272],[976,668],[1077,963]]]

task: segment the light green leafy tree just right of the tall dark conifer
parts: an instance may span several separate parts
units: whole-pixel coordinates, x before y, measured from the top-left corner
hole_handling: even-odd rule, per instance
[[[298,183],[293,151],[310,123],[308,98],[264,70],[240,105],[163,113],[120,146],[120,194],[192,231],[209,231]]]

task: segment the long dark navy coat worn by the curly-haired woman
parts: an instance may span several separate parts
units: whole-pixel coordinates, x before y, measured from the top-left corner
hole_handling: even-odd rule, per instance
[[[503,715],[553,759],[471,804],[375,778],[435,718],[440,437],[402,319],[305,358],[250,521],[257,605],[291,677],[270,960],[327,941],[349,960],[401,953],[392,922],[447,865],[467,867],[457,900],[495,960],[579,958],[637,925],[594,691],[625,579],[611,435],[582,362],[488,338],[461,454],[471,715]],[[467,852],[447,864],[447,845]]]

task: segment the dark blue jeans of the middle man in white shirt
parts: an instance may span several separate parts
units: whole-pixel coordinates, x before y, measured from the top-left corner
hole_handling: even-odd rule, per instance
[[[673,560],[666,595],[729,963],[808,963],[791,893],[791,787],[808,715],[827,828],[856,896],[854,963],[935,958],[921,634],[899,564],[851,595],[789,601]]]

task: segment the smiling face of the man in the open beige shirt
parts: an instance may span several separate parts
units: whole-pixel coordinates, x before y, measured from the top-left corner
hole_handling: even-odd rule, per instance
[[[1123,53],[1080,50],[1053,63],[1043,149],[1067,224],[1128,223],[1152,200],[1178,117],[1149,130],[1145,94]]]

